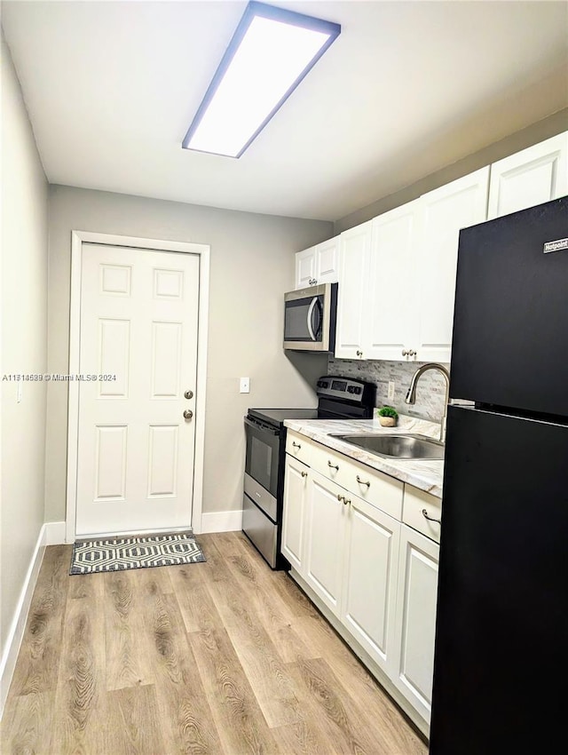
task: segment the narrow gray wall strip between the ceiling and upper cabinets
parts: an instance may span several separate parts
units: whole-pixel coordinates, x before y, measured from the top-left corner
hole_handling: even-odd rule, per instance
[[[556,136],[556,134],[562,133],[567,129],[568,108],[565,108],[554,115],[549,115],[538,123],[527,126],[522,131],[517,131],[505,139],[501,139],[479,150],[473,155],[464,157],[457,163],[452,163],[435,173],[431,173],[430,176],[426,176],[395,194],[378,198],[376,202],[368,204],[367,207],[363,207],[356,212],[351,212],[350,215],[346,215],[344,218],[335,220],[334,234],[340,234],[347,228],[359,226],[359,223],[376,218],[377,215],[382,215],[383,212],[400,207],[401,204],[406,204],[406,202],[412,202],[413,199],[417,199],[422,194],[442,187],[455,179],[460,179],[461,176],[467,176],[473,171],[478,171],[480,168],[484,168],[485,165],[496,163],[497,160],[501,160],[503,157],[514,155],[521,149],[532,147],[533,144],[538,144],[538,142],[544,141],[544,139],[548,139],[551,136]]]

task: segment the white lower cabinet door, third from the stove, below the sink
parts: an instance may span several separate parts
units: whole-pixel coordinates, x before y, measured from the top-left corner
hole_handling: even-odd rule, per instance
[[[347,511],[342,622],[385,672],[394,670],[400,522],[359,497]]]

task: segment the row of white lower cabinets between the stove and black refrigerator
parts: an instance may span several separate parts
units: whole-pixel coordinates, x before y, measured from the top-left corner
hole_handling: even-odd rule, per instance
[[[321,446],[314,449],[315,457]],[[338,455],[337,461],[345,458]],[[394,688],[402,695],[410,705],[406,711],[414,713],[415,722],[427,733],[438,543],[385,513],[380,502],[369,503],[288,454],[285,474],[281,550],[292,576],[300,577],[316,605],[335,617],[345,639],[355,640],[353,649],[365,651],[388,679],[391,694],[396,696]],[[392,480],[393,489],[388,489],[384,475],[374,481],[369,469],[367,476],[384,487],[390,507],[398,491],[399,510],[403,509],[400,482]],[[417,505],[422,510],[428,494],[415,491],[420,494],[416,497],[415,489],[405,487],[409,511]],[[376,672],[375,676],[382,680]]]

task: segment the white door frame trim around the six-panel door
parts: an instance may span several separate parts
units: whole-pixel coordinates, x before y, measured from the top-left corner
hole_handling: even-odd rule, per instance
[[[193,459],[193,505],[191,527],[201,532],[203,498],[203,465],[205,446],[205,388],[207,383],[207,336],[209,321],[209,244],[163,241],[116,234],[99,234],[91,231],[71,232],[71,298],[69,315],[69,374],[79,372],[81,346],[81,272],[83,243],[123,246],[130,249],[173,251],[199,255],[199,307],[197,322],[197,376],[195,383],[195,452]],[[79,442],[79,383],[68,382],[67,403],[67,505],[66,543],[75,542],[77,505],[77,461]],[[169,532],[172,530],[169,529]],[[112,535],[113,533],[108,533]],[[144,534],[144,533],[133,533]]]

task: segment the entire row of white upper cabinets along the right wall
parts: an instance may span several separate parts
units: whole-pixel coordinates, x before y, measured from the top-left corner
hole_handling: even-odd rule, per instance
[[[568,194],[568,131],[296,254],[339,282],[335,356],[450,362],[461,228]]]

